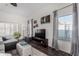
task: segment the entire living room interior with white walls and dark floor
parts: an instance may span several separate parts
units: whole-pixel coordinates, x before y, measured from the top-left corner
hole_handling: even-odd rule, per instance
[[[0,3],[0,55],[78,56],[78,9],[77,3]]]

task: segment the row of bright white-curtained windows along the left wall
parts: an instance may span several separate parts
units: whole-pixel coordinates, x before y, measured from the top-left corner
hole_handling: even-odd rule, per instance
[[[24,28],[24,24],[0,23],[0,36],[13,35],[14,32],[20,32],[21,35],[24,35]]]

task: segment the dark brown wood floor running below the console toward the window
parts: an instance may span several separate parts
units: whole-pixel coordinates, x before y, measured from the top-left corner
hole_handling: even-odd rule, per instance
[[[42,45],[39,45],[36,41],[33,40],[30,42],[30,45],[38,49],[39,51],[47,54],[48,56],[71,56],[70,54],[64,51],[56,50],[51,47],[43,47]]]

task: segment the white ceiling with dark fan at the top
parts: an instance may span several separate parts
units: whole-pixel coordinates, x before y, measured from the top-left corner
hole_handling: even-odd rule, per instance
[[[46,8],[47,6],[52,6],[54,9],[58,9],[58,6],[68,5],[66,3],[17,3],[18,6],[14,7],[9,3],[1,3],[0,10],[6,13],[13,13],[19,15],[32,14],[33,12],[37,12],[42,8]],[[57,7],[57,8],[56,8]],[[52,10],[53,11],[53,10]]]

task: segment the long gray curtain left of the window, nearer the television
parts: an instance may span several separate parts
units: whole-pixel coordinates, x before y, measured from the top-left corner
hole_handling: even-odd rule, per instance
[[[53,17],[53,43],[52,47],[55,49],[58,49],[58,36],[57,36],[57,28],[58,28],[58,20],[57,20],[57,11],[53,12],[54,17]]]

